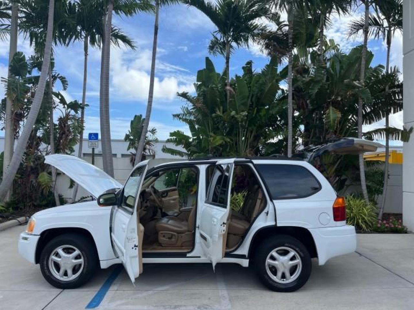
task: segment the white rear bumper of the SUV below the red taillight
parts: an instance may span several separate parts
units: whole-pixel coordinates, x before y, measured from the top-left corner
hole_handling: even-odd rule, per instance
[[[309,229],[315,241],[319,265],[335,256],[352,253],[356,250],[355,227],[344,225]]]

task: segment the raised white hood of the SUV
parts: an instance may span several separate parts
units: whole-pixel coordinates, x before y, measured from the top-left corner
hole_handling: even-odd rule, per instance
[[[95,198],[110,189],[122,188],[122,184],[101,169],[72,155],[48,155],[45,163],[59,169]]]

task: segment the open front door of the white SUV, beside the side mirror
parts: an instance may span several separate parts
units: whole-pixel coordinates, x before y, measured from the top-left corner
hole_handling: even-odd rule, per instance
[[[115,254],[124,265],[132,283],[142,272],[142,237],[139,223],[140,191],[148,161],[141,162],[131,172],[120,191],[119,203],[112,207],[111,241]]]

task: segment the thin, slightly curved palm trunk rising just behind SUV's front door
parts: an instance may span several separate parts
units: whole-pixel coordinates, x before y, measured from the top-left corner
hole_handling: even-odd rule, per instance
[[[147,131],[149,126],[149,118],[151,117],[152,101],[154,99],[154,79],[155,79],[155,61],[156,61],[156,48],[158,41],[158,19],[159,19],[159,0],[155,2],[155,22],[154,22],[154,41],[152,43],[152,60],[151,60],[151,73],[149,75],[149,92],[147,111],[145,112],[144,124],[142,125],[140,142],[138,143],[137,153],[135,154],[135,165],[137,165],[142,159],[142,153],[144,152],[145,138],[147,137]]]

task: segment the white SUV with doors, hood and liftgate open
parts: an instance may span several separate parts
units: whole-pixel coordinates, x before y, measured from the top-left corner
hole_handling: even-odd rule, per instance
[[[336,146],[335,146],[336,145]],[[343,139],[304,150],[312,157],[375,151],[377,143]],[[132,282],[142,263],[253,264],[274,291],[295,291],[319,265],[353,252],[344,198],[306,160],[272,158],[140,162],[122,186],[70,155],[46,156],[96,200],[31,217],[19,253],[40,264],[60,289],[84,284],[98,266],[122,263]]]

